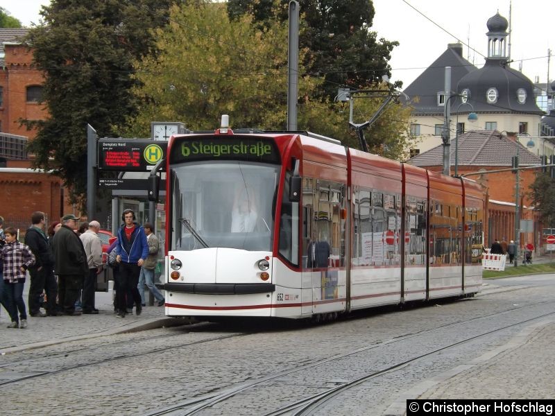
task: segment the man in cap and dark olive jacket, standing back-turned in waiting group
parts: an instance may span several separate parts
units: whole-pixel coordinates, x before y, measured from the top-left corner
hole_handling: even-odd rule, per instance
[[[58,304],[65,315],[80,315],[75,310],[83,278],[89,273],[87,254],[74,229],[78,218],[73,214],[62,217],[62,227],[52,238],[54,263],[58,275]]]

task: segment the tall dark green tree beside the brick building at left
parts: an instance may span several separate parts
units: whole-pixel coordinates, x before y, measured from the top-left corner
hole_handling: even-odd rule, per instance
[[[44,72],[45,121],[28,144],[34,165],[53,170],[83,204],[87,178],[87,123],[99,137],[135,113],[132,62],[155,55],[150,28],[167,21],[170,0],[53,0],[27,41]]]

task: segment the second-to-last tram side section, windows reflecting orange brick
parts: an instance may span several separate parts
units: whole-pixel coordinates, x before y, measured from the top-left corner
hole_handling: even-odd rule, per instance
[[[429,177],[429,298],[463,293],[463,189],[440,173]]]

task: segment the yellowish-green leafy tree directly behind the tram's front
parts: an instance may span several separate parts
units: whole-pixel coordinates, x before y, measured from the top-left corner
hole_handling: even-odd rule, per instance
[[[217,24],[214,24],[217,22]],[[156,58],[136,62],[142,103],[127,135],[148,132],[153,120],[214,129],[221,114],[232,125],[283,129],[287,109],[287,27],[258,30],[248,16],[229,21],[225,4],[174,6],[169,27],[155,31]],[[303,79],[300,95],[317,80]],[[311,103],[309,103],[311,106]]]

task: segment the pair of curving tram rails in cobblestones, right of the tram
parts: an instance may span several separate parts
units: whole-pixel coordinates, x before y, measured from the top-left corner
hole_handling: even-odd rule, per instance
[[[352,351],[347,352],[345,354],[338,354],[336,356],[328,357],[328,358],[320,360],[316,363],[302,365],[300,367],[296,367],[296,368],[293,368],[291,370],[280,372],[279,374],[274,374],[272,376],[263,377],[262,379],[258,379],[258,380],[255,380],[255,381],[240,383],[239,385],[235,385],[232,388],[225,388],[224,390],[220,390],[219,392],[213,392],[213,393],[210,393],[208,395],[203,395],[202,397],[194,397],[192,399],[187,399],[186,401],[182,401],[181,403],[176,404],[175,406],[170,406],[168,408],[160,409],[160,410],[157,410],[157,411],[152,412],[152,413],[146,413],[145,416],[162,416],[162,415],[189,416],[189,415],[196,415],[196,414],[200,413],[200,411],[207,410],[208,408],[212,408],[216,404],[221,404],[223,401],[225,401],[227,399],[230,399],[231,397],[234,397],[235,395],[239,395],[240,393],[246,392],[247,390],[257,388],[257,387],[262,386],[264,384],[268,384],[268,382],[270,382],[270,381],[279,381],[279,379],[282,379],[284,376],[288,376],[290,374],[305,372],[306,370],[309,370],[311,368],[326,365],[328,363],[332,363],[333,361],[338,361],[341,358],[345,358],[345,357],[352,356],[352,355],[355,355],[355,354],[360,354],[360,353],[363,353],[363,352],[368,352],[370,349],[376,349],[376,348],[379,348],[379,347],[386,347],[387,345],[391,345],[393,343],[404,342],[404,341],[410,340],[411,338],[426,336],[430,333],[434,333],[434,332],[437,332],[437,331],[443,331],[445,329],[456,327],[458,325],[468,324],[468,323],[470,323],[472,321],[475,321],[475,320],[490,320],[490,318],[493,318],[495,315],[502,315],[502,314],[505,314],[505,313],[511,313],[511,312],[518,311],[519,309],[531,308],[533,306],[539,306],[539,305],[547,304],[547,303],[549,303],[549,301],[537,302],[535,304],[529,304],[529,305],[525,305],[525,306],[518,306],[518,307],[515,307],[515,308],[512,308],[512,309],[506,309],[504,311],[499,311],[497,313],[490,313],[488,315],[482,315],[480,317],[471,318],[469,320],[461,320],[461,321],[458,321],[458,322],[452,322],[450,324],[445,324],[445,325],[442,325],[441,327],[437,327],[437,328],[434,328],[434,329],[429,329],[429,330],[426,330],[426,331],[420,331],[418,333],[406,334],[404,336],[399,336],[399,337],[396,337],[396,338],[392,338],[390,340],[386,340],[386,341],[381,342],[381,343],[376,343],[376,344],[373,344],[373,345],[369,345],[369,346],[366,346],[366,347],[355,349],[355,350],[352,350]],[[470,336],[470,337],[465,338],[463,340],[459,340],[456,343],[450,343],[449,345],[445,345],[443,347],[434,349],[432,351],[426,352],[425,354],[419,354],[417,356],[413,356],[411,358],[408,358],[407,360],[404,360],[404,361],[399,362],[399,363],[395,363],[395,364],[390,365],[390,366],[388,366],[388,367],[386,367],[382,370],[379,370],[377,372],[371,372],[369,374],[365,374],[364,376],[358,377],[357,379],[355,379],[353,381],[348,381],[347,383],[335,386],[334,388],[325,388],[325,391],[323,391],[323,392],[319,392],[316,395],[311,395],[309,397],[305,397],[305,398],[301,399],[300,401],[296,401],[293,404],[289,404],[287,406],[284,406],[284,408],[281,408],[279,410],[274,410],[273,412],[267,413],[264,416],[286,415],[288,413],[291,413],[291,411],[296,411],[296,413],[293,413],[294,415],[310,415],[311,413],[316,411],[317,408],[319,408],[320,406],[325,404],[326,401],[329,401],[330,399],[332,399],[336,395],[339,395],[342,392],[345,392],[348,389],[355,387],[356,385],[364,383],[365,381],[368,381],[370,379],[375,379],[379,376],[383,376],[384,374],[388,374],[390,372],[395,372],[397,370],[400,370],[402,367],[405,367],[405,366],[407,366],[407,365],[409,365],[409,364],[411,364],[415,361],[420,360],[421,358],[425,358],[427,356],[432,356],[434,354],[438,354],[438,353],[443,352],[447,349],[454,348],[454,347],[462,345],[464,343],[469,343],[470,341],[476,340],[477,338],[488,336],[492,333],[502,331],[504,329],[509,329],[511,327],[516,327],[518,325],[521,325],[521,324],[524,324],[524,323],[527,323],[527,322],[531,322],[533,320],[538,320],[540,318],[545,318],[549,315],[554,315],[554,314],[555,313],[550,312],[550,313],[544,313],[544,314],[541,314],[541,315],[536,315],[533,318],[529,318],[529,319],[526,319],[526,320],[520,320],[518,322],[514,322],[512,324],[505,325],[503,327],[498,327],[498,328],[495,328],[495,329],[491,329],[490,331],[485,331],[485,332],[479,333],[475,336]],[[181,410],[185,410],[185,411],[181,412]]]

